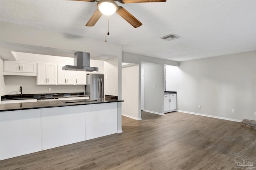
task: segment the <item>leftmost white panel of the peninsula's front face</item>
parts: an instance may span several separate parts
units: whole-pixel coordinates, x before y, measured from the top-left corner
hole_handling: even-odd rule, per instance
[[[0,129],[0,160],[42,149],[40,109],[0,112]]]

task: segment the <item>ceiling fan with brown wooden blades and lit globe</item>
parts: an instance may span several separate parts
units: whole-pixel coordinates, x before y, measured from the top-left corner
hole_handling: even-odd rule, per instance
[[[120,15],[124,20],[130,23],[134,28],[137,28],[142,25],[142,23],[137,20],[132,14],[125,10],[122,6],[118,6],[116,2],[118,1],[121,4],[128,3],[142,3],[142,2],[166,2],[166,0],[76,0],[76,1],[85,1],[85,2],[98,2],[97,10],[94,12],[90,20],[86,23],[85,26],[94,26],[96,22],[100,19],[102,14],[109,16],[115,12]]]

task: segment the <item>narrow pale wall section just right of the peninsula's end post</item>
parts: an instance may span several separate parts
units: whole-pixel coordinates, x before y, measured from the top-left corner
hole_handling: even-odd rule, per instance
[[[122,68],[122,115],[140,120],[139,110],[139,66]]]

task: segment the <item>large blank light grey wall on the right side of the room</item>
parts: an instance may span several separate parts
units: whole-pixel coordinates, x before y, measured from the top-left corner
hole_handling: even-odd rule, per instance
[[[256,51],[167,66],[166,90],[177,91],[178,110],[255,120]]]

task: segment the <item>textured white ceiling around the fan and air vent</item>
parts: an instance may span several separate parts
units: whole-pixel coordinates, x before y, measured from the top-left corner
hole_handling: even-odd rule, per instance
[[[0,0],[0,20],[105,40],[105,17],[85,27],[96,2],[69,0]],[[143,23],[132,27],[110,16],[108,41],[122,51],[186,61],[256,50],[256,0],[167,0],[120,4]],[[159,37],[174,33],[180,39]]]

